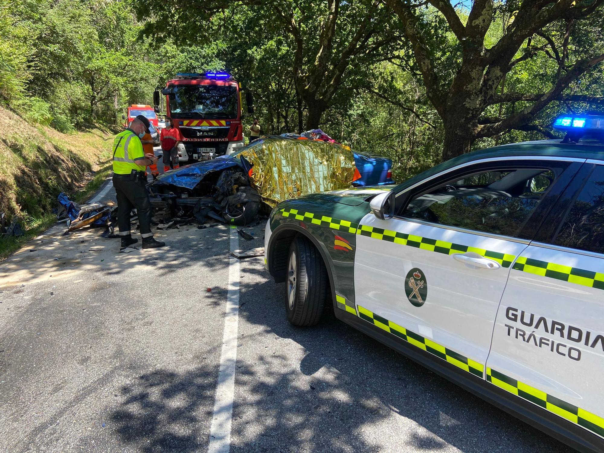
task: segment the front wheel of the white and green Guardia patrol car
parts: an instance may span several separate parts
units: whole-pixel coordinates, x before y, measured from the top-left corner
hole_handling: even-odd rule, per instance
[[[327,300],[327,269],[321,254],[305,237],[296,237],[289,247],[286,305],[294,326],[315,326]]]

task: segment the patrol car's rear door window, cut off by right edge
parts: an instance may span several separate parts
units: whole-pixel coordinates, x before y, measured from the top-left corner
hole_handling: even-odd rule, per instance
[[[554,243],[604,253],[604,165],[583,186]]]

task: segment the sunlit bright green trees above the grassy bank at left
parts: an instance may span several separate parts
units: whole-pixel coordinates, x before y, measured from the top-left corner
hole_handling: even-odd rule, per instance
[[[141,39],[124,0],[0,0],[0,104],[62,132],[120,123],[176,72],[219,69],[212,46]]]

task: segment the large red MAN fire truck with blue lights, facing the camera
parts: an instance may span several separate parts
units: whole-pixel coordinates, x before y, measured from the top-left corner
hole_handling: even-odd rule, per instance
[[[153,93],[155,112],[165,96],[166,116],[182,136],[181,164],[214,159],[243,147],[242,88],[226,72],[176,74]],[[254,112],[250,92],[247,111]]]

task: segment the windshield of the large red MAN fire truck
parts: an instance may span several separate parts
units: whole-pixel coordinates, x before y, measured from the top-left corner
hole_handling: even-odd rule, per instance
[[[235,86],[175,85],[170,87],[170,113],[187,118],[236,118]]]

